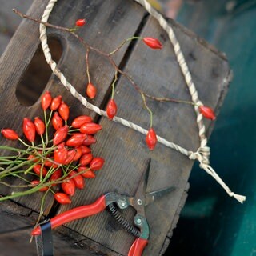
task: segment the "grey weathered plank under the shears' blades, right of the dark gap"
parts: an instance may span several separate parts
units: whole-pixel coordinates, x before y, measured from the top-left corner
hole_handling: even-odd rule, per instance
[[[226,90],[226,79],[229,78],[227,62],[222,55],[214,54],[189,34],[182,33],[179,26],[174,26],[174,30],[184,49],[202,102],[217,109],[222,92]],[[125,70],[133,74],[134,80],[139,81],[141,88],[149,94],[190,100],[170,42],[165,40],[166,34],[152,18],[146,22],[142,31],[142,36],[148,34],[164,39],[164,50],[153,52],[138,42]],[[118,104],[118,116],[144,128],[149,127],[149,115],[142,107],[140,95],[124,78],[116,86],[115,100]],[[148,101],[148,104],[154,112],[154,126],[159,135],[189,150],[198,148],[198,127],[191,106],[152,101]],[[162,251],[166,234],[172,229],[173,223],[175,224],[176,209],[181,202],[193,162],[160,144],[153,152],[149,152],[145,146],[144,135],[109,122],[106,118],[102,118],[100,122],[104,129],[97,135],[98,143],[93,150],[96,155],[106,159],[106,166],[98,174],[97,180],[88,184],[86,194],[78,192],[75,202],[90,203],[93,202],[92,198],[112,190],[133,195],[138,186],[136,181],[145,168],[146,158],[151,157],[153,161],[148,190],[171,185],[176,187],[173,194],[146,209],[151,233],[145,255],[158,255]],[[207,122],[207,127],[209,124]],[[62,207],[62,210],[66,210],[66,207]],[[128,210],[125,215],[132,221],[134,211]],[[67,226],[126,255],[134,238],[112,223],[110,215],[102,213]]]

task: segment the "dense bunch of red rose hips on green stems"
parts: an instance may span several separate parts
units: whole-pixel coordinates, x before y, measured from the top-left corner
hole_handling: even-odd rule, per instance
[[[90,150],[90,145],[96,142],[93,135],[102,126],[94,123],[87,115],[74,118],[68,126],[70,107],[62,101],[61,95],[52,98],[49,91],[42,95],[41,106],[44,121],[39,117],[34,118],[34,121],[23,118],[22,131],[30,144],[24,142],[12,129],[2,129],[1,132],[5,138],[18,140],[27,146],[15,161],[20,164],[19,160],[23,159],[26,166],[29,166],[23,174],[30,173],[35,177],[28,186],[31,193],[50,190],[56,201],[67,204],[71,202],[70,196],[74,195],[76,188],[84,188],[84,178],[95,178],[94,171],[102,169],[104,159],[94,157]],[[54,128],[52,139],[48,138],[51,126]],[[41,142],[35,146],[38,138],[41,138]],[[18,170],[14,167],[15,161],[10,171]],[[52,190],[57,184],[60,184],[62,191]]]

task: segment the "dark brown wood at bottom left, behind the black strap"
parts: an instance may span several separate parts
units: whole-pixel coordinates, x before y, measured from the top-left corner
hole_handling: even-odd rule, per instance
[[[35,256],[37,254],[35,239],[30,243],[30,231],[38,218],[33,210],[18,206],[14,202],[1,202],[0,204],[0,249],[2,256],[21,254]],[[26,229],[24,229],[26,228]],[[21,230],[18,230],[21,229]],[[22,230],[23,229],[23,230]],[[90,242],[90,239],[81,234],[68,230],[65,227],[59,229],[61,233],[54,232],[54,255],[107,255],[111,250],[102,245]],[[86,241],[86,243],[85,243]],[[118,256],[118,254],[113,254]]]

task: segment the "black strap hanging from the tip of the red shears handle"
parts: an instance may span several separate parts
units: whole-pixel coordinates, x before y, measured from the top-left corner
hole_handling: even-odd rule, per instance
[[[40,225],[42,233],[42,256],[54,256],[53,236],[51,234],[50,220]]]

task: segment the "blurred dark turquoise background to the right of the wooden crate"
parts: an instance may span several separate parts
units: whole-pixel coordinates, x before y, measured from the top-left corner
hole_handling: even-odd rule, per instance
[[[210,162],[238,194],[230,198],[194,166],[190,190],[166,255],[256,255],[256,1],[186,2],[178,22],[226,53],[234,72],[210,137]]]

